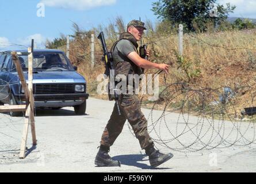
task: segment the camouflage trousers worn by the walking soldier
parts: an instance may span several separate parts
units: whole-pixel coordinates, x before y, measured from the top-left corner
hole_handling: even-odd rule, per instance
[[[147,120],[140,110],[140,100],[137,95],[121,95],[118,101],[121,116],[117,105],[114,105],[110,120],[101,137],[101,145],[110,147],[120,135],[125,121],[128,120],[142,149],[151,145],[153,141],[147,131]]]

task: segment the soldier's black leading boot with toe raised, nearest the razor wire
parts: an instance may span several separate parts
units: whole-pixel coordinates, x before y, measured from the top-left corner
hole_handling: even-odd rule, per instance
[[[170,160],[173,157],[173,154],[162,154],[158,150],[155,150],[154,144],[148,146],[146,149],[146,154],[149,157],[150,165],[152,167],[157,167],[162,163],[165,163],[167,160]]]

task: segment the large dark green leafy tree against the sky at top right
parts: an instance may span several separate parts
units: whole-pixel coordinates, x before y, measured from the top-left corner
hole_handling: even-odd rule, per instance
[[[162,21],[169,20],[173,26],[184,24],[189,31],[194,31],[193,24],[196,23],[201,30],[206,29],[207,22],[215,21],[217,24],[228,18],[228,13],[232,13],[235,6],[227,3],[217,5],[217,16],[211,17],[211,4],[217,0],[159,0],[152,3],[152,11]]]

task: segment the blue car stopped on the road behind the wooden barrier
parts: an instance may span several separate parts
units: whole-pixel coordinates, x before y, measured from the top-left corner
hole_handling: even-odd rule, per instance
[[[28,83],[28,51],[16,51]],[[86,112],[86,80],[78,74],[64,52],[55,49],[33,51],[33,94],[36,108],[74,107],[75,114]],[[10,51],[0,52],[0,104],[25,104],[25,94]],[[18,112],[10,112],[18,116]]]

